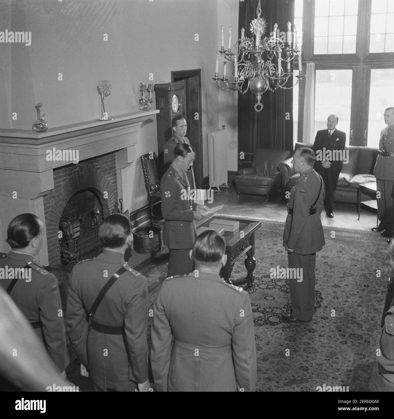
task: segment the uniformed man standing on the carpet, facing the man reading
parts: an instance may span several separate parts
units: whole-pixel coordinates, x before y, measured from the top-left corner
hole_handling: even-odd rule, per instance
[[[314,314],[316,252],[324,244],[320,214],[323,209],[323,180],[313,169],[315,153],[299,148],[293,165],[300,173],[290,192],[288,216],[283,233],[283,246],[288,252],[289,268],[301,268],[302,280],[289,279],[291,314],[285,322],[311,321]]]

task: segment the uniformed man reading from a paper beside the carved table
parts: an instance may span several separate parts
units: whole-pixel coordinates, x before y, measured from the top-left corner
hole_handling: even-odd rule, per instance
[[[174,161],[161,178],[161,213],[166,220],[164,243],[170,249],[168,277],[186,275],[192,271],[193,262],[189,252],[197,237],[194,220],[202,220],[208,210],[205,205],[196,205],[190,199],[194,184],[188,169],[194,158],[193,147],[177,145]]]

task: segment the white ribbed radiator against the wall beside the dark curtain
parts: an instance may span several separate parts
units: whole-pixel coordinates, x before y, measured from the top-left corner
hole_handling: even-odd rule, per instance
[[[208,134],[209,189],[227,186],[227,132],[224,129]]]

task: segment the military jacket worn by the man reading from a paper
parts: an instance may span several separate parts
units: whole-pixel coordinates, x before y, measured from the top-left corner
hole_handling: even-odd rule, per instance
[[[187,171],[190,187],[193,188],[191,171]],[[187,182],[171,164],[161,178],[161,213],[164,223],[164,243],[170,249],[191,249],[196,239],[194,213],[187,197]],[[193,209],[196,205],[192,204]]]

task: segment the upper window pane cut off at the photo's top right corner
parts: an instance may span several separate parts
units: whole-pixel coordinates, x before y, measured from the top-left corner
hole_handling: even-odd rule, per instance
[[[394,52],[394,0],[372,0],[369,52]]]

